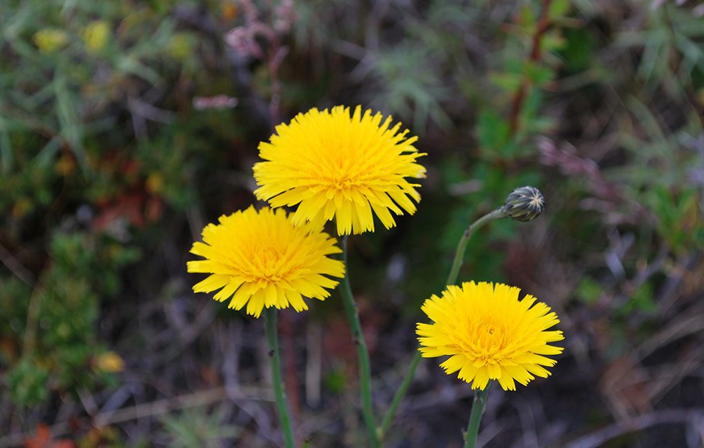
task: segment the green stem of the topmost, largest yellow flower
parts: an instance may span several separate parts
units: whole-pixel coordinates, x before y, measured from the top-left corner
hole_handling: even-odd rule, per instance
[[[372,371],[369,363],[369,352],[367,351],[367,343],[365,343],[362,333],[362,324],[359,321],[357,312],[357,304],[352,295],[350,286],[349,265],[347,264],[347,236],[342,238],[342,260],[345,263],[345,278],[342,279],[340,293],[342,295],[342,304],[345,308],[347,321],[352,332],[352,340],[357,346],[357,361],[359,364],[359,389],[362,399],[362,414],[364,423],[369,433],[370,443],[372,448],[379,447],[377,439],[377,430],[374,417],[374,409],[372,407]]]

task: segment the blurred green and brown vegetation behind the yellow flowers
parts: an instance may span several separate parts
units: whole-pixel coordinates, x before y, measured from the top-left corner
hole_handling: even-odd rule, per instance
[[[192,294],[187,250],[253,203],[272,124],[362,103],[429,153],[417,214],[351,241],[377,410],[467,223],[530,184],[546,213],[480,231],[461,278],[540,297],[567,350],[550,381],[492,395],[480,440],[698,446],[703,15],[662,0],[1,2],[0,445],[279,443],[260,322]],[[313,447],[360,440],[344,327],[335,295],[282,316]],[[457,443],[468,396],[423,364],[389,446]]]

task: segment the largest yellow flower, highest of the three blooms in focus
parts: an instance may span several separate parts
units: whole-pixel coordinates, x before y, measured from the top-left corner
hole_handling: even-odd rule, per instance
[[[401,123],[389,128],[391,117],[382,119],[360,106],[350,117],[350,108],[340,105],[279,124],[270,143],[259,144],[265,162],[254,165],[257,198],[272,207],[298,205],[295,225],[334,218],[339,235],[374,231],[372,210],[386,229],[396,225],[389,210],[413,215],[418,185],[405,178],[425,177],[416,163],[425,154],[413,146],[417,137],[398,132]]]

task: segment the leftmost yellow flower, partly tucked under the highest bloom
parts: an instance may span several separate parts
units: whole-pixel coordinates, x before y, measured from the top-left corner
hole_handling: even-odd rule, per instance
[[[232,297],[230,308],[259,317],[264,307],[308,309],[303,297],[325,300],[325,288],[344,277],[345,267],[327,255],[339,253],[335,238],[312,224],[296,227],[284,210],[264,207],[221,216],[220,224],[203,229],[203,243],[191,253],[206,260],[188,262],[189,272],[210,274],[196,283],[196,293],[210,293],[222,302]]]

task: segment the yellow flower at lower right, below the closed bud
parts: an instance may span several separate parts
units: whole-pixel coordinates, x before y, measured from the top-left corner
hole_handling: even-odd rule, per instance
[[[450,358],[440,366],[450,375],[486,388],[498,380],[503,390],[516,390],[515,382],[527,385],[535,376],[547,378],[555,360],[543,355],[559,354],[561,347],[548,345],[563,340],[562,331],[546,331],[560,322],[543,302],[519,288],[501,283],[462,283],[448,286],[442,297],[433,295],[422,306],[434,324],[417,324],[423,357]]]

